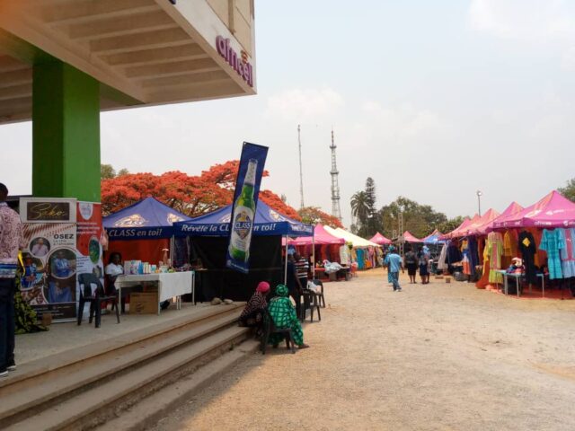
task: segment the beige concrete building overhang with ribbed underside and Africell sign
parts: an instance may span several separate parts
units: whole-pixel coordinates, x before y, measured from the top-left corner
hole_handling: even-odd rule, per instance
[[[256,92],[253,0],[0,0],[0,123],[31,119],[33,66],[101,83],[101,109]]]

